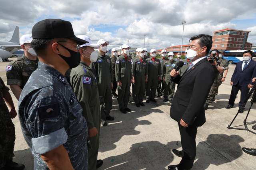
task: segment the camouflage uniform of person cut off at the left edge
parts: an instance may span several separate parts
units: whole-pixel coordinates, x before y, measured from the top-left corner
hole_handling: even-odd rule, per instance
[[[15,128],[3,97],[9,90],[0,77],[0,168],[14,156]]]

